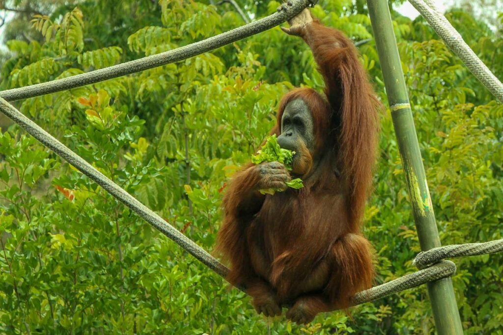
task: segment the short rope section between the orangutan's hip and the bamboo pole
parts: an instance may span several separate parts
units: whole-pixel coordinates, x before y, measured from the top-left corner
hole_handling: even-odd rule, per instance
[[[443,261],[429,268],[409,273],[379,286],[355,294],[352,298],[353,305],[373,301],[385,296],[420,286],[430,281],[447,278],[456,273],[456,265],[451,261]]]

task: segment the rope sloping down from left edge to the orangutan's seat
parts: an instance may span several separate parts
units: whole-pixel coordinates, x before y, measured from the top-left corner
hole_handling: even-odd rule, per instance
[[[168,224],[162,217],[148,209],[144,204],[136,200],[131,194],[122,189],[119,185],[107,178],[103,173],[86,162],[83,158],[68,149],[64,144],[56,140],[45,130],[40,128],[33,121],[25,117],[19,110],[14,108],[7,100],[0,98],[0,110],[12,121],[21,126],[31,136],[40,143],[54,151],[59,157],[74,166],[77,170],[94,180],[107,192],[112,194],[117,200],[128,206],[132,211],[140,215],[153,228],[169,237],[180,247],[184,248],[189,254],[197,258],[211,270],[225,277],[229,271],[218,260],[208,254],[204,249],[180,233],[175,227]]]

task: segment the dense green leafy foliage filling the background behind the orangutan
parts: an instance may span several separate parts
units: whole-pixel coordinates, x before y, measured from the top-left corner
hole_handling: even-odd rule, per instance
[[[0,12],[14,17],[3,27],[0,89],[103,68],[243,24],[230,4],[210,3],[7,2]],[[238,3],[252,19],[279,5]],[[503,78],[503,17],[486,22],[463,8],[449,10],[448,19]],[[362,62],[387,103],[365,2],[324,0],[312,12],[355,41],[369,39],[359,47]],[[392,16],[442,242],[501,239],[503,106],[423,19]],[[226,179],[266,136],[283,93],[299,85],[321,89],[315,67],[300,39],[275,28],[177,64],[15,105],[211,250]],[[355,307],[352,318],[321,314],[305,327],[258,316],[243,293],[228,290],[8,120],[0,124],[2,333],[434,332],[426,287]],[[414,271],[420,251],[389,110],[382,124],[365,226],[377,254],[376,284]],[[502,255],[456,264],[466,333],[503,334]]]

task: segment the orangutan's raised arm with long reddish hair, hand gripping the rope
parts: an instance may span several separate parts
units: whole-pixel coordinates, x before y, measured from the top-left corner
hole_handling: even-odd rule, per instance
[[[338,130],[339,164],[347,178],[350,213],[358,221],[372,182],[380,106],[353,42],[313,20],[308,9],[283,31],[300,36],[312,50],[325,81],[325,95]]]

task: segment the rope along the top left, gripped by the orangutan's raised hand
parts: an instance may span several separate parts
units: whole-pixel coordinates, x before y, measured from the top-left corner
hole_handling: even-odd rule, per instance
[[[6,99],[7,101],[26,99],[34,96],[89,85],[107,79],[121,77],[126,74],[140,72],[143,70],[194,57],[278,26],[302,12],[304,8],[306,8],[308,5],[311,5],[311,2],[309,0],[292,0],[291,4],[291,6],[285,5],[283,7],[285,10],[281,10],[266,18],[230,30],[220,35],[210,37],[203,41],[192,43],[170,51],[162,52],[157,55],[143,57],[126,63],[117,64],[87,73],[77,74],[67,78],[56,79],[21,88],[8,89],[0,92],[0,97]]]

